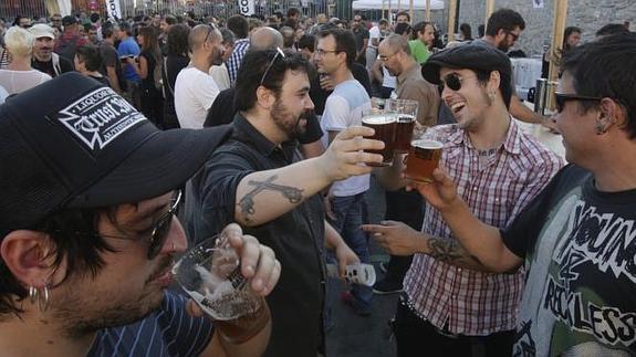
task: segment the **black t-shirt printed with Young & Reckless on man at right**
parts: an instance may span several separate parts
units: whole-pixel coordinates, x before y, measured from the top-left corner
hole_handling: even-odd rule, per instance
[[[514,355],[636,353],[636,189],[566,166],[502,237],[525,260]]]

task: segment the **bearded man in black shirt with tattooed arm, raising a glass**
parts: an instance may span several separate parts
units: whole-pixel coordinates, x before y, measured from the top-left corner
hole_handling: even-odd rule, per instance
[[[324,246],[334,250],[341,275],[359,262],[325,222],[321,190],[336,180],[367,175],[382,148],[373,134],[350,127],[326,151],[301,160],[296,138],[314,105],[309,96],[311,65],[300,53],[280,49],[249,51],[237,76],[239,111],[232,133],[188,186],[187,229],[197,241],[238,222],[269,242],[283,279],[268,300],[272,337],[264,356],[316,356],[324,350]],[[207,129],[207,128],[206,128]],[[357,138],[356,138],[357,136]]]

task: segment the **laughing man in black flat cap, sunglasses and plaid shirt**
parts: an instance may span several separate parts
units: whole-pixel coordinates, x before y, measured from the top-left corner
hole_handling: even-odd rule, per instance
[[[479,44],[438,52],[421,70],[444,87],[441,98],[457,120],[429,128],[425,138],[444,146],[439,165],[471,211],[499,228],[562,166],[511,119],[510,72],[503,52]],[[421,232],[393,221],[365,227],[392,254],[415,254],[394,325],[398,356],[420,356],[425,347],[427,356],[472,356],[473,343],[486,356],[510,356],[523,275],[484,273],[439,210],[427,204],[424,217]]]

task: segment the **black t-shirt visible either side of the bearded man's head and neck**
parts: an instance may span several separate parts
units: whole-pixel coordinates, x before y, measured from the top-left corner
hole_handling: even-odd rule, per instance
[[[227,88],[217,95],[212,106],[208,111],[208,116],[206,117],[204,127],[232,123],[232,119],[237,115],[237,109],[234,106],[234,88]],[[310,113],[310,116],[306,119],[307,123],[305,133],[296,138],[300,144],[314,143],[320,140],[320,138],[323,136],[323,130],[320,127],[320,122],[315,113]]]

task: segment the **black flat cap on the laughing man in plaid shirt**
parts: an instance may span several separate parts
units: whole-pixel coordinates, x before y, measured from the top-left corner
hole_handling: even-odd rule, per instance
[[[487,43],[468,43],[442,50],[431,55],[421,66],[421,76],[439,84],[441,67],[473,71],[499,71],[502,77],[510,78],[510,59],[500,50]]]

